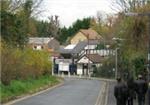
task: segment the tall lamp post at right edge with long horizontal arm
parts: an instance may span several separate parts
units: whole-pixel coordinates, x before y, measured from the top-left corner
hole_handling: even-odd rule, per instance
[[[148,29],[147,29],[147,35],[148,35],[148,53],[147,53],[147,69],[148,69],[148,80],[150,80],[150,12],[147,13],[125,13],[126,16],[147,16],[148,17]]]

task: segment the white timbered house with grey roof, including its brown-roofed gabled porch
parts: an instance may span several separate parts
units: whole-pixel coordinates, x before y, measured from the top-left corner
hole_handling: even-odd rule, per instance
[[[101,65],[104,59],[96,50],[98,43],[97,41],[82,41],[78,44],[61,47],[59,52],[62,58],[58,59],[60,61],[56,63],[58,64],[58,72],[69,73],[73,71],[78,75],[89,75],[93,71],[93,65]]]

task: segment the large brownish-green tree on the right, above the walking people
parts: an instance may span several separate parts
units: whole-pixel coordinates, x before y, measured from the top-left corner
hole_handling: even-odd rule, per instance
[[[132,2],[128,12],[149,12],[150,4],[145,0],[142,2]],[[123,11],[124,12],[124,11]],[[125,61],[129,65],[129,70],[133,70],[134,74],[143,72],[147,57],[147,17],[128,17],[121,12],[118,14],[117,20],[113,25],[112,33],[115,37],[124,39],[121,43],[121,61]],[[121,62],[120,61],[120,62]],[[141,61],[141,62],[140,62]],[[121,63],[121,69],[126,66],[126,63]]]

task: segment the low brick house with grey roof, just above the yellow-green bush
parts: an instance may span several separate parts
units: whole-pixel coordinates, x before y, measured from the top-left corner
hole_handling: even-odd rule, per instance
[[[34,50],[54,52],[59,49],[60,43],[53,37],[30,37],[28,46]]]

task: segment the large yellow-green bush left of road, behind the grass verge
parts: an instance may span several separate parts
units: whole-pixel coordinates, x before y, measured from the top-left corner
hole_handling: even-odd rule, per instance
[[[18,49],[3,46],[1,81],[9,85],[14,79],[38,78],[50,73],[51,62],[49,54],[45,51],[34,51],[32,49]]]

